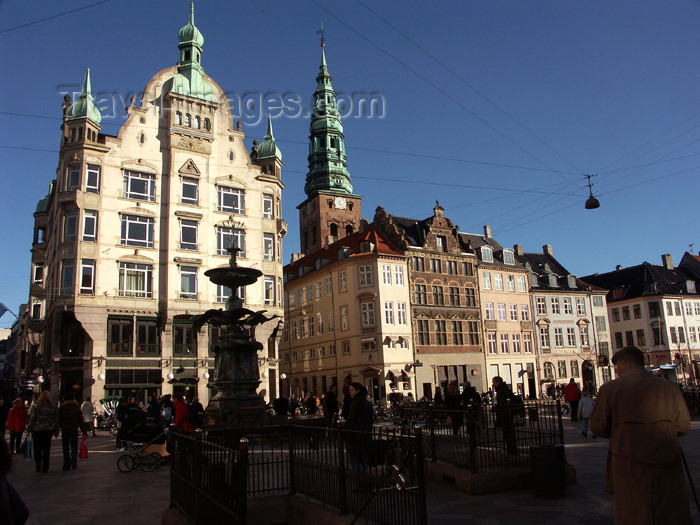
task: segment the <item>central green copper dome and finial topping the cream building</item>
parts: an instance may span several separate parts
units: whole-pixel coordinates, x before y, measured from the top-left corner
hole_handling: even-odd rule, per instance
[[[180,44],[180,62],[177,75],[163,84],[163,93],[177,93],[188,97],[216,102],[214,88],[204,80],[201,65],[204,37],[194,25],[194,2],[190,4],[190,21],[177,34]]]

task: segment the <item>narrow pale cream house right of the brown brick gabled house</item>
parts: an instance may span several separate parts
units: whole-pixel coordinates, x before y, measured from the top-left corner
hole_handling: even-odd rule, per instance
[[[483,235],[459,236],[467,251],[477,258],[487,384],[500,376],[514,392],[536,398],[537,362],[528,271],[515,259],[514,250],[495,241],[490,226],[484,226]]]

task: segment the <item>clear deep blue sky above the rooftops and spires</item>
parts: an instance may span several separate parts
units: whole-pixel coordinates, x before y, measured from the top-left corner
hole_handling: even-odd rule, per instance
[[[264,135],[259,96],[310,106],[323,23],[333,86],[355,101],[343,119],[348,169],[369,220],[377,206],[422,219],[438,200],[461,231],[490,224],[502,245],[528,252],[552,244],[579,276],[660,264],[663,253],[677,263],[691,243],[700,249],[697,1],[227,0],[195,9],[205,71],[232,100],[253,102],[248,147]],[[188,0],[0,2],[0,301],[15,313],[28,300],[32,214],[56,176],[64,92],[79,91],[90,67],[93,93],[113,108],[103,130],[116,134],[121,101],[176,64],[188,14]],[[362,94],[380,111],[358,115]],[[299,251],[309,120],[279,113],[288,262]],[[584,209],[586,175],[597,210]],[[6,313],[0,327],[13,321]]]

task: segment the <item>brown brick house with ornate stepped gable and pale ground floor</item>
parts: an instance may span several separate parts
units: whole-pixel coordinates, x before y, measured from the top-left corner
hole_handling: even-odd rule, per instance
[[[418,396],[471,382],[486,390],[482,326],[474,252],[437,204],[422,221],[377,208],[374,223],[405,254],[411,289]]]

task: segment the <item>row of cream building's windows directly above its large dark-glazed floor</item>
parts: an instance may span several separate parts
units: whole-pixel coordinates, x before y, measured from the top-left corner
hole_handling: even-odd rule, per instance
[[[180,299],[198,299],[199,268],[197,266],[179,266]],[[281,297],[282,282],[275,277],[265,275],[262,279],[263,298],[266,305],[275,305]],[[75,261],[61,261],[61,295],[72,295],[75,291]],[[95,293],[95,260],[81,259],[79,273],[79,293]],[[153,297],[153,266],[129,262],[119,263],[119,297]],[[225,302],[231,296],[230,288],[217,285],[216,302]],[[239,288],[238,296],[245,300],[245,288]]]

